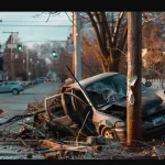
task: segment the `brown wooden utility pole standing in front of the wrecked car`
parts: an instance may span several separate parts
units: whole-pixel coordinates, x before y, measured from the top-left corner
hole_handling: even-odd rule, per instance
[[[127,144],[141,140],[142,13],[128,12]]]

